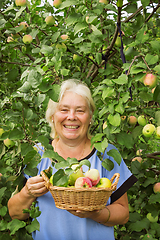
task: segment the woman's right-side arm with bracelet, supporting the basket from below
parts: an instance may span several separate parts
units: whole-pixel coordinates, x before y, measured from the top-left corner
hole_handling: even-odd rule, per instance
[[[125,193],[114,203],[108,205],[100,211],[70,211],[72,214],[81,218],[91,218],[92,220],[106,226],[125,224],[129,220],[128,197]]]

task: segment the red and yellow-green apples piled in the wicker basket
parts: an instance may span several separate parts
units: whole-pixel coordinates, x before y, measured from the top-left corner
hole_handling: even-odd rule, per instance
[[[69,176],[67,187],[75,188],[110,188],[112,183],[106,178],[100,178],[99,171],[97,169],[89,169],[86,173],[83,173],[82,167],[79,168],[79,164],[72,165],[73,173]],[[49,179],[53,184],[53,176]]]

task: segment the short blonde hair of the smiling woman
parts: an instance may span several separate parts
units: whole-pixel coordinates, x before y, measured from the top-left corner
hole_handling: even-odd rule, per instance
[[[49,103],[48,103],[47,111],[46,111],[46,120],[49,123],[49,126],[51,127],[50,136],[52,138],[58,137],[55,126],[54,126],[54,122],[52,122],[52,116],[54,115],[54,113],[56,111],[58,103],[61,101],[65,92],[67,92],[67,91],[77,93],[78,95],[84,97],[87,100],[89,110],[90,110],[90,115],[93,115],[93,112],[95,110],[95,104],[94,104],[93,98],[91,96],[91,91],[85,83],[82,83],[81,81],[79,81],[77,79],[68,79],[66,81],[63,81],[61,84],[58,102],[54,102],[50,99]],[[91,121],[91,124],[90,124],[90,126],[88,128],[88,132],[87,132],[87,136],[89,139],[91,138],[91,135],[90,135],[91,125],[92,125],[92,121]]]

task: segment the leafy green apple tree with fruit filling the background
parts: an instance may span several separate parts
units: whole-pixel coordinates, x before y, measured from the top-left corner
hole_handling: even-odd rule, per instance
[[[7,202],[23,171],[37,173],[34,145],[51,149],[46,107],[69,78],[92,91],[92,143],[102,152],[114,144],[138,179],[128,192],[129,222],[115,227],[115,238],[160,238],[159,26],[158,0],[0,2],[0,239],[32,239],[39,229],[35,204],[25,210],[34,221],[19,221]]]

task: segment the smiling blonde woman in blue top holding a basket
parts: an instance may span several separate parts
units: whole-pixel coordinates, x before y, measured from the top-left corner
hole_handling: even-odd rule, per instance
[[[46,112],[46,119],[51,126],[51,144],[64,159],[88,159],[91,168],[99,170],[100,177],[110,179],[114,173],[120,173],[117,190],[100,211],[58,209],[40,177],[40,172],[51,165],[50,159],[43,158],[37,166],[39,175],[25,176],[26,185],[8,202],[10,216],[23,220],[28,217],[23,209],[30,208],[32,202],[37,200],[41,215],[38,217],[40,231],[33,233],[35,240],[114,240],[114,225],[125,224],[129,219],[127,190],[136,182],[136,178],[123,159],[119,166],[112,157],[107,156],[107,151],[116,149],[111,144],[104,158],[114,162],[114,169],[109,172],[102,167],[97,150],[91,147],[89,133],[94,109],[90,90],[85,84],[77,80],[64,81],[58,103],[50,100]],[[39,149],[42,156],[43,147],[40,144]]]

